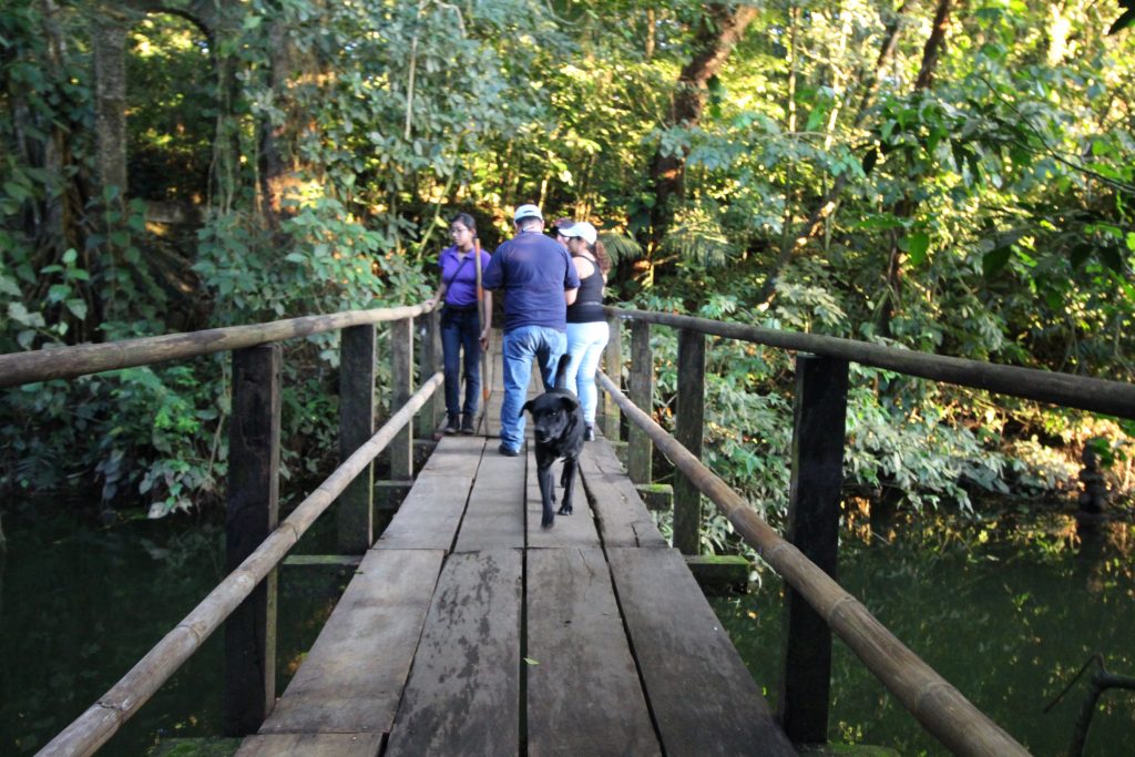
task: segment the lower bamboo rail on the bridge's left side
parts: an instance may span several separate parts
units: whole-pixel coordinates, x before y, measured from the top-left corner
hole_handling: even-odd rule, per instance
[[[375,311],[369,311],[375,312]],[[284,558],[316,519],[335,502],[359,473],[390,443],[444,380],[438,371],[369,441],[335,469],[257,550],[190,611],[146,655],[110,688],[99,701],[61,731],[39,757],[91,755],[144,705],[205,639],[216,631],[268,573]]]

